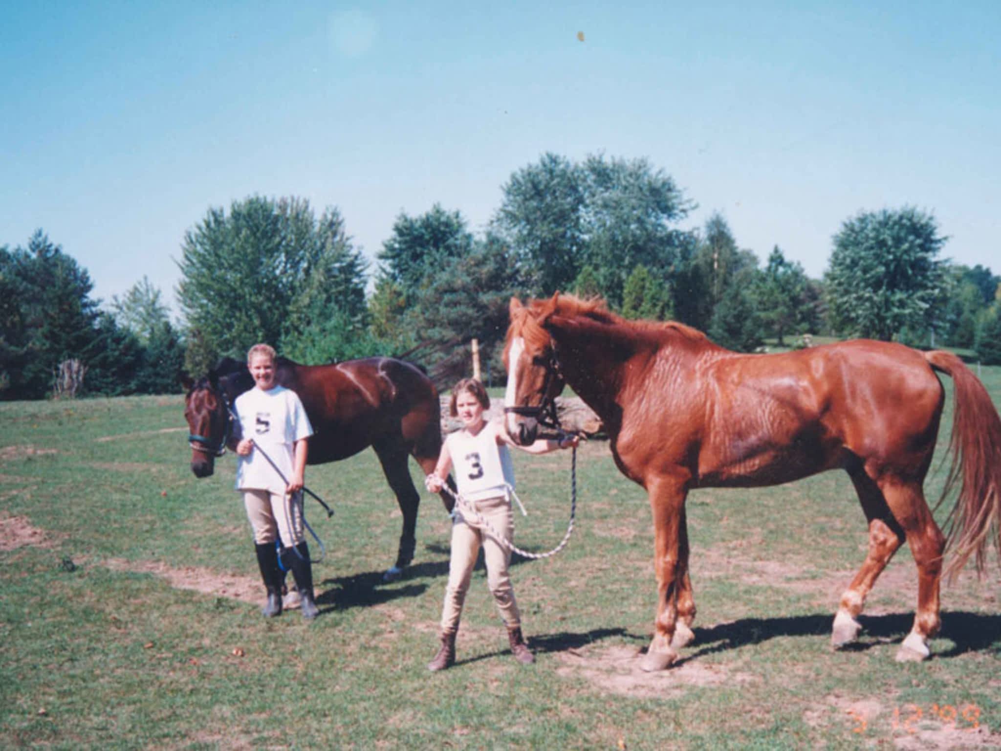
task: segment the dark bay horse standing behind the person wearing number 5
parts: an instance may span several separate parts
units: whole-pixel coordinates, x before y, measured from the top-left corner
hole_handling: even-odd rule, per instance
[[[420,496],[410,480],[407,456],[424,475],[434,470],[441,449],[437,390],[415,365],[390,357],[366,357],[335,364],[300,365],[278,357],[275,382],[295,392],[305,408],[313,435],[308,464],[347,459],[369,446],[382,465],[389,488],[403,514],[396,563],[385,578],[398,576],[413,559]],[[215,457],[229,443],[229,408],[253,388],[246,363],[224,358],[199,381],[185,383],[184,417],[191,437],[191,471],[212,474]],[[443,492],[441,501],[451,511]]]

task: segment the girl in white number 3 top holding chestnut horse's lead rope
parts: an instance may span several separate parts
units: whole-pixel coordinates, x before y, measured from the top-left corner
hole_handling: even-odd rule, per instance
[[[540,439],[531,446],[518,446],[502,426],[483,419],[483,411],[489,406],[490,398],[478,381],[463,379],[455,385],[449,412],[462,421],[462,429],[445,439],[437,466],[427,476],[426,486],[430,492],[438,493],[449,469],[452,469],[459,495],[473,502],[476,511],[490,527],[510,541],[515,527],[511,510],[515,473],[508,447],[517,446],[530,454],[546,454],[577,446],[578,438],[566,436],[559,441]],[[455,662],[455,634],[480,546],[486,562],[487,586],[508,627],[511,651],[523,664],[535,662],[536,658],[522,634],[522,615],[508,572],[511,550],[495,540],[477,519],[463,517],[460,507],[456,506],[451,526],[448,584],[441,611],[441,645],[427,665],[428,670],[444,670]]]

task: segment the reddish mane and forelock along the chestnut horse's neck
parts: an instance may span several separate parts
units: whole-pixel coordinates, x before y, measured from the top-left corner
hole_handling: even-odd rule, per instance
[[[514,310],[508,339],[522,336],[534,348],[546,347],[550,334],[544,324],[552,315],[587,318],[605,326],[622,329],[624,334],[631,337],[663,340],[665,337],[681,336],[692,342],[709,343],[705,333],[685,323],[676,320],[629,320],[609,310],[608,304],[601,297],[581,298],[576,294],[559,292],[549,299],[530,300],[525,307]]]

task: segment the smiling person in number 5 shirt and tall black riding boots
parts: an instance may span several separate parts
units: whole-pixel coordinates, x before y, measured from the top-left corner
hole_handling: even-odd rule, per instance
[[[236,445],[236,490],[243,493],[257,564],[267,589],[264,615],[281,614],[284,574],[278,566],[280,558],[295,579],[302,617],[311,620],[319,610],[313,598],[309,547],[303,536],[301,491],[312,427],[295,392],[275,383],[274,359],[274,349],[267,344],[254,344],[247,352],[254,388],[233,403],[242,437]],[[275,548],[278,540],[280,553]]]

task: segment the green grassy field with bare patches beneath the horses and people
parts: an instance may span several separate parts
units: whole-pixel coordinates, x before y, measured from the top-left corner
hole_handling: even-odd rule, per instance
[[[1001,368],[982,376],[1001,401]],[[312,468],[307,484],[336,509],[328,521],[310,507],[328,549],[321,616],[265,620],[232,458],[196,480],[181,413],[180,397],[0,405],[0,747],[1001,747],[996,565],[944,589],[934,658],[900,665],[916,598],[905,548],[860,643],[831,651],[867,543],[840,473],[690,496],[697,641],[647,675],[650,512],[593,442],[570,546],[513,567],[537,664],[508,653],[480,567],[458,664],[430,674],[447,573],[439,501],[424,496],[414,565],[384,585],[399,513],[374,455]],[[516,457],[521,546],[562,537],[570,460]]]

